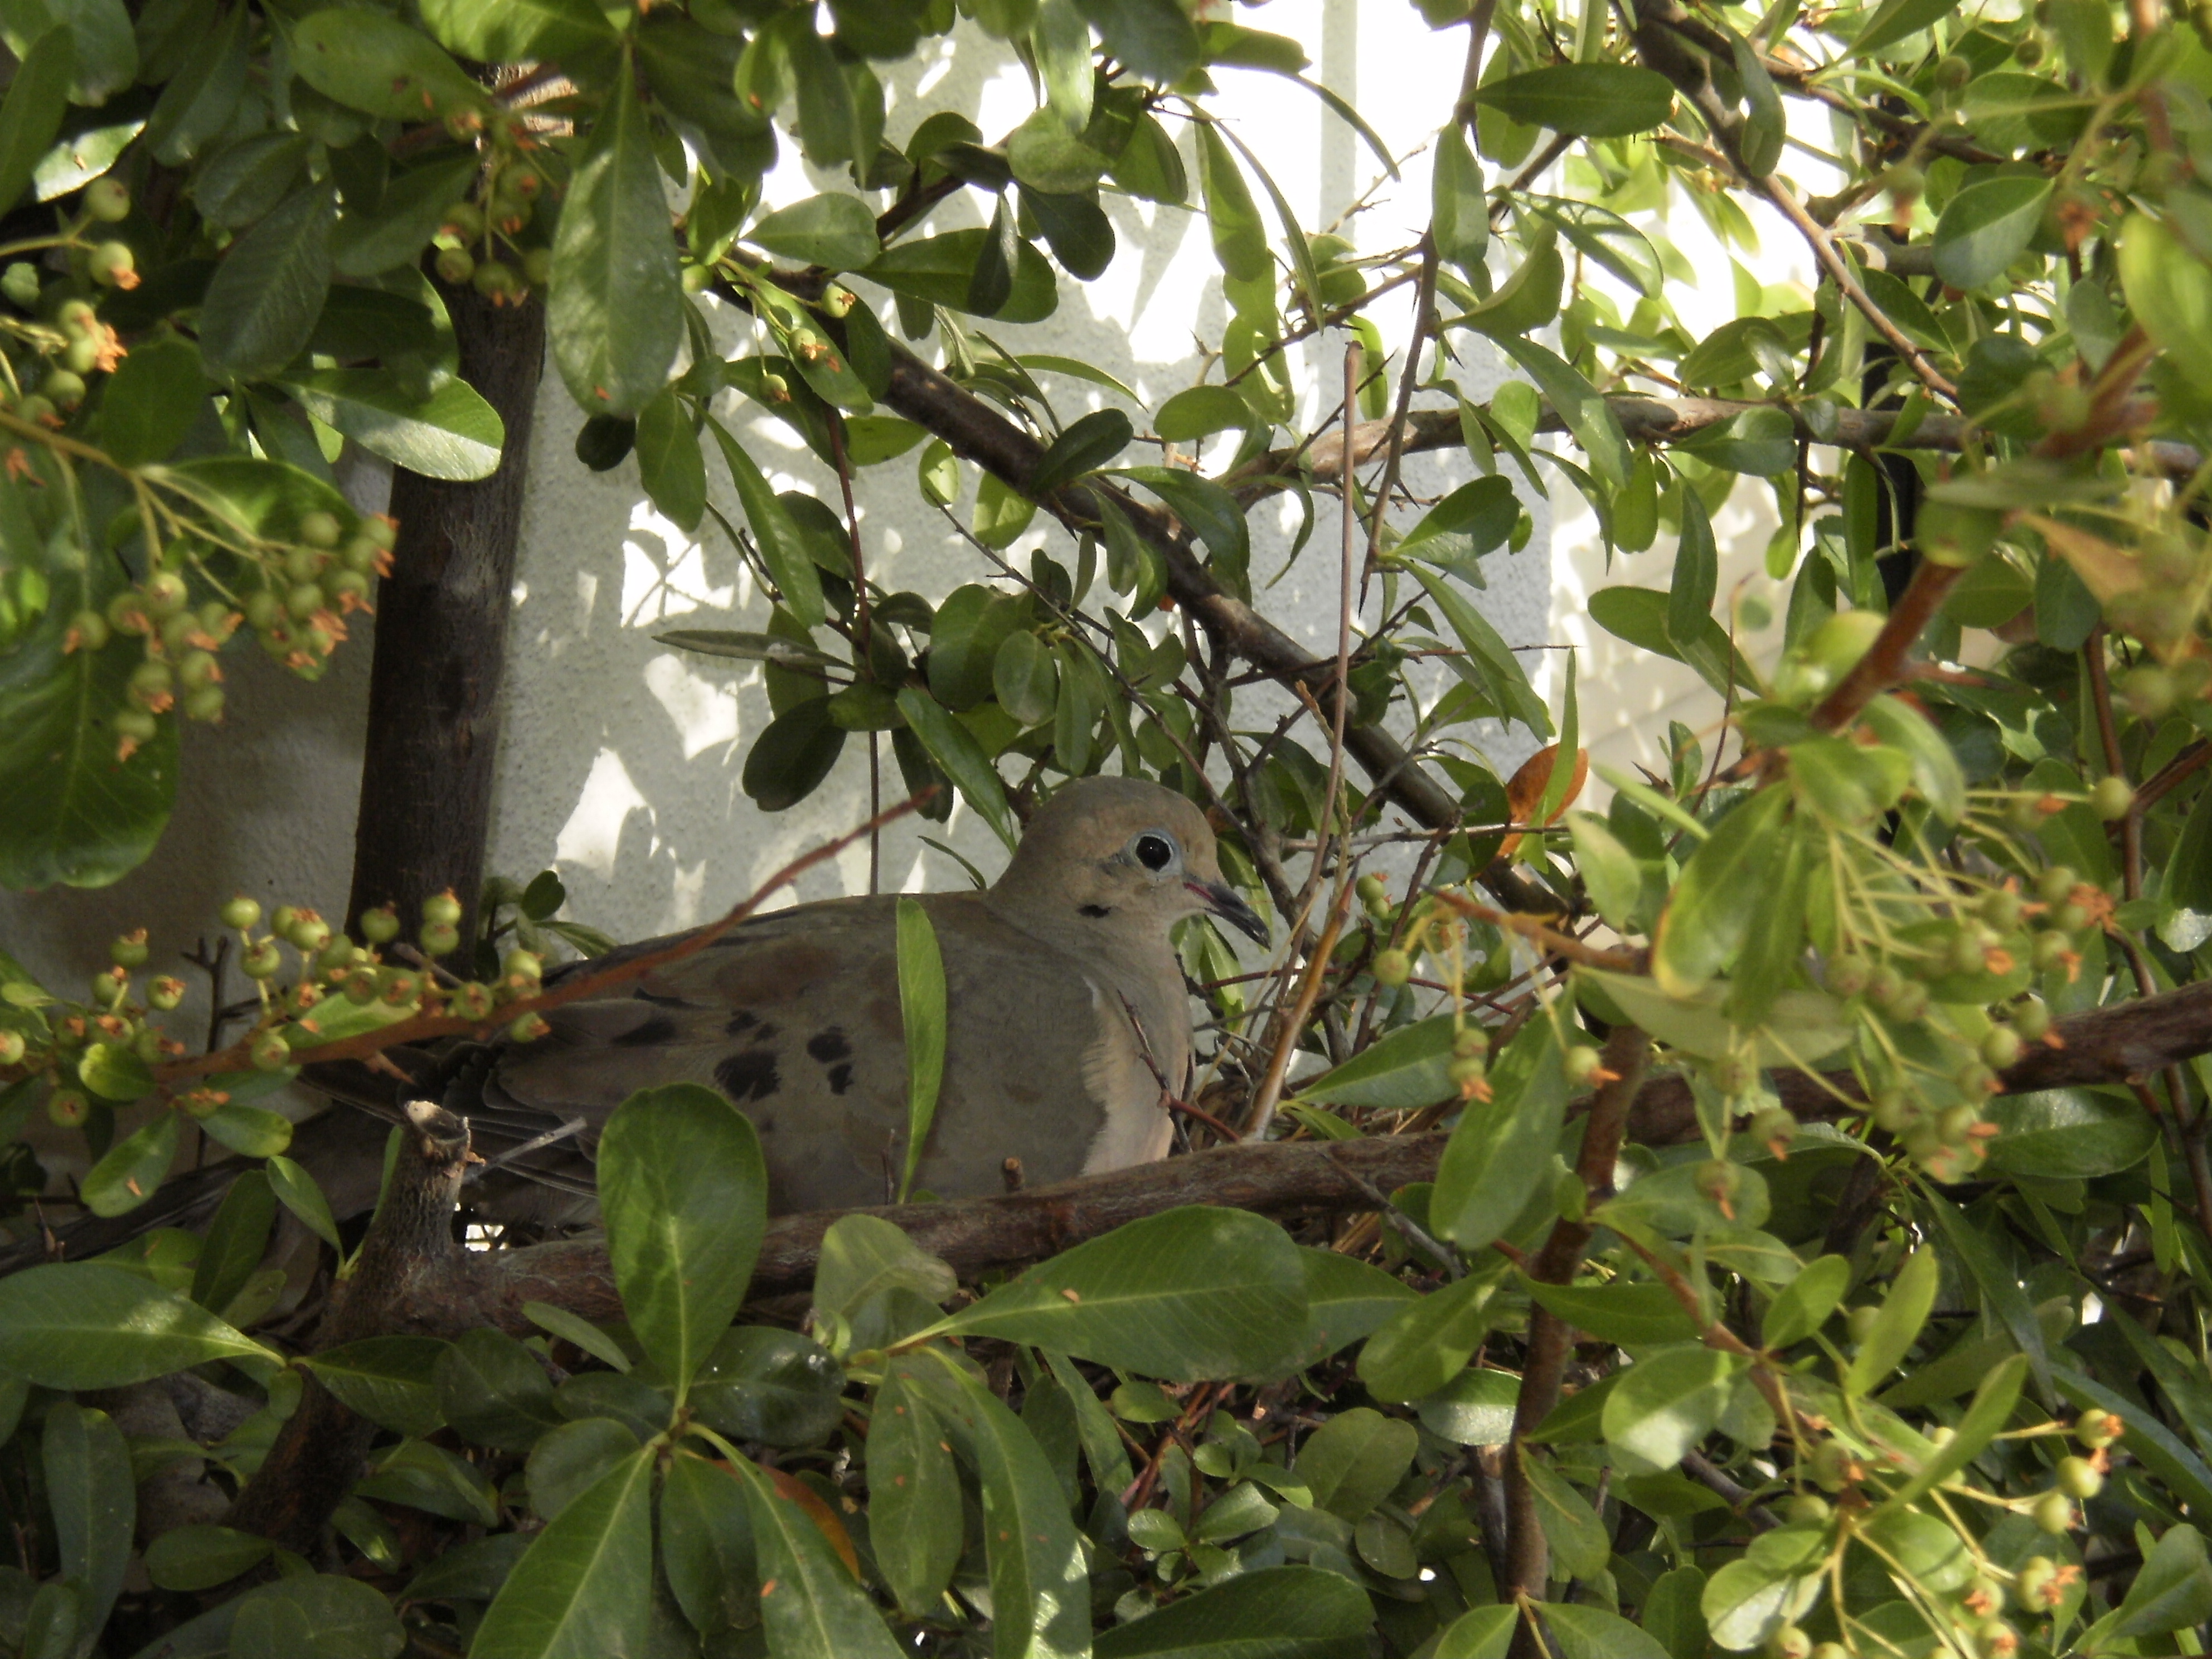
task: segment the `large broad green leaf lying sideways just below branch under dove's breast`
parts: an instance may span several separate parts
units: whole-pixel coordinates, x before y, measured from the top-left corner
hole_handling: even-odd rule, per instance
[[[1031,1267],[945,1329],[1031,1343],[1144,1376],[1265,1376],[1305,1325],[1298,1248],[1243,1210],[1130,1221]]]

